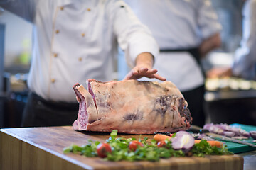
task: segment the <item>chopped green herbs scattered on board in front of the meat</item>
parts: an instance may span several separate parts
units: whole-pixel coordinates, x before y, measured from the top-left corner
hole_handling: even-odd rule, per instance
[[[107,153],[107,157],[105,160],[108,161],[121,161],[126,160],[129,162],[133,161],[150,161],[157,162],[161,158],[169,158],[169,157],[185,157],[186,153],[183,150],[175,150],[171,147],[171,141],[166,140],[166,145],[164,147],[157,147],[156,140],[151,140],[148,142],[148,138],[144,137],[142,140],[139,137],[139,142],[142,143],[143,147],[137,145],[137,149],[132,151],[129,149],[129,142],[136,140],[135,138],[125,139],[124,137],[117,137],[117,130],[113,130],[110,133],[109,139],[106,142],[111,146],[112,152]],[[68,154],[72,152],[74,154],[82,154],[85,157],[97,157],[97,145],[100,142],[92,140],[88,140],[87,145],[83,145],[79,147],[78,145],[70,145],[69,147],[65,147],[63,149],[64,154]],[[211,147],[206,140],[202,140],[198,144],[195,144],[191,149],[190,153],[196,157],[204,157],[205,155],[221,155],[221,154],[233,154],[229,152],[226,146],[222,148]]]

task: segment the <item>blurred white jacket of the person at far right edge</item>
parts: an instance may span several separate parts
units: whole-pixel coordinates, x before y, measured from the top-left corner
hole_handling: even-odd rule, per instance
[[[247,0],[242,8],[242,40],[235,51],[233,74],[256,79],[256,0]]]

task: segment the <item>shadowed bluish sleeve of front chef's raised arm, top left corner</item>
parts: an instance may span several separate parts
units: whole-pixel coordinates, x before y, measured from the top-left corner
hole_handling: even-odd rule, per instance
[[[33,22],[36,1],[38,0],[0,0],[0,6],[28,22]]]

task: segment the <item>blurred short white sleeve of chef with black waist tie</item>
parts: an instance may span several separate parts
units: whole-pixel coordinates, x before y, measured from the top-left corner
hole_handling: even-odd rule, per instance
[[[196,1],[196,8],[198,8],[198,24],[201,29],[202,37],[208,38],[210,35],[220,32],[222,26],[218,21],[217,13],[213,8],[210,0]]]

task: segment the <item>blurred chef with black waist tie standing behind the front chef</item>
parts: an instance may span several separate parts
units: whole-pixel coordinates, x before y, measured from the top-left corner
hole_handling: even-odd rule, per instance
[[[149,27],[160,47],[154,67],[174,82],[188,101],[193,125],[203,126],[205,77],[201,58],[221,45],[220,30],[209,0],[127,0]],[[145,79],[144,79],[145,80]],[[146,79],[148,80],[148,79]]]

